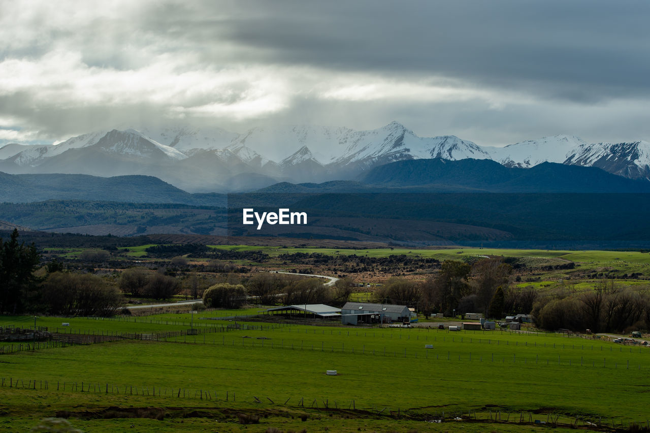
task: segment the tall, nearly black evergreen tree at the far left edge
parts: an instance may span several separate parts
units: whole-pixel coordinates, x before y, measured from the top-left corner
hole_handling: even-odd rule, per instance
[[[23,310],[27,292],[36,285],[34,270],[40,263],[36,246],[18,243],[18,230],[9,240],[0,238],[0,312],[13,314]]]

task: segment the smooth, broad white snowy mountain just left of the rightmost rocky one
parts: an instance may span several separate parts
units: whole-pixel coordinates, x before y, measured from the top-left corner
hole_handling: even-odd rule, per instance
[[[491,159],[506,167],[530,168],[541,163],[564,163],[578,146],[586,144],[575,135],[554,135],[510,144],[502,148],[484,148]]]

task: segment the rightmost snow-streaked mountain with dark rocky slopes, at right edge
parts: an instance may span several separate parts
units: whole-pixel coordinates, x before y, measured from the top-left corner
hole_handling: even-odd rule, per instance
[[[567,155],[564,164],[602,168],[630,179],[650,180],[650,143],[582,144]]]

